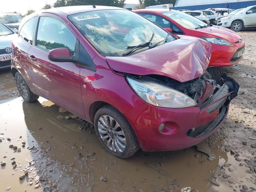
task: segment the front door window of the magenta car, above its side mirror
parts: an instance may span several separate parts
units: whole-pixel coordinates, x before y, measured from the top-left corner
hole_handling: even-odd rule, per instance
[[[40,17],[36,46],[49,51],[56,48],[68,48],[74,55],[76,37],[58,19],[52,17]]]

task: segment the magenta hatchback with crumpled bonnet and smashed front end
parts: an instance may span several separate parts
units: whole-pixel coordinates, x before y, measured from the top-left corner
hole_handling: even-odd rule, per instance
[[[26,102],[39,96],[94,124],[104,148],[128,158],[209,137],[239,85],[208,68],[211,46],[177,38],[129,10],[72,6],[22,20],[12,74]]]

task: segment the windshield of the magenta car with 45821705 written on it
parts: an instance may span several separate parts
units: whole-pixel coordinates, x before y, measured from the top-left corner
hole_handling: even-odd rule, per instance
[[[166,39],[168,33],[129,10],[98,10],[68,16],[78,30],[103,56],[123,56],[130,49]],[[154,34],[154,35],[153,35]],[[175,40],[169,36],[168,42]],[[142,51],[149,46],[138,49]],[[134,50],[135,52],[136,50]]]

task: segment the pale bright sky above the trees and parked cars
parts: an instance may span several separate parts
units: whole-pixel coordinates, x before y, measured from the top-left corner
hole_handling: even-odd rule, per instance
[[[0,0],[0,12],[26,13],[28,9],[40,10],[46,3],[56,0]],[[126,0],[125,3],[138,3],[138,0]]]

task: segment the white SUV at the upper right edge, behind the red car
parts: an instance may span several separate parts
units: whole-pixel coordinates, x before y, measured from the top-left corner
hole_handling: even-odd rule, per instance
[[[217,26],[228,27],[233,31],[256,27],[256,6],[244,8],[232,16],[220,18]]]

